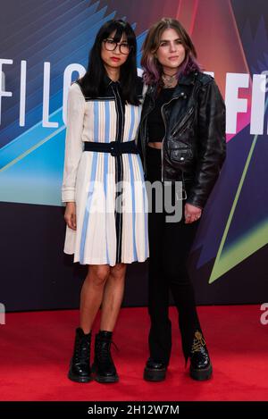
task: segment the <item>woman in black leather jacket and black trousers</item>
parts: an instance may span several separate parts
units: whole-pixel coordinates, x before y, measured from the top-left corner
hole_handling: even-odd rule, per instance
[[[190,376],[208,380],[212,364],[187,261],[225,158],[225,105],[214,79],[200,70],[195,46],[179,21],[163,18],[149,29],[141,64],[148,88],[138,147],[147,181],[164,186],[163,197],[155,194],[149,213],[151,327],[144,378],[163,381],[166,376],[172,349],[171,290]],[[176,188],[178,183],[181,189]],[[164,204],[160,212],[159,201]],[[182,205],[180,221],[167,220],[166,206],[171,201],[174,208]]]

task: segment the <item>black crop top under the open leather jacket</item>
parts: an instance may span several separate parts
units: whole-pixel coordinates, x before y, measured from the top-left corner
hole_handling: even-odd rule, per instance
[[[171,100],[173,91],[174,88],[162,88],[155,99],[155,107],[153,111],[148,114],[147,119],[149,142],[161,143],[163,140],[165,127],[161,107]]]

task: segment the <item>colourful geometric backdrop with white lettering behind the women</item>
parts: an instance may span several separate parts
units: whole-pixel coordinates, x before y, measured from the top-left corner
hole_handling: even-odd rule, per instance
[[[138,38],[139,66],[147,28],[163,16],[180,20],[188,30],[199,62],[205,71],[214,73],[227,105],[227,160],[205,208],[189,263],[197,302],[264,302],[268,288],[266,3],[2,2],[0,211],[4,262],[0,302],[7,310],[77,306],[78,282],[85,270],[72,266],[70,258],[63,256],[60,189],[66,92],[70,81],[85,71],[88,51],[105,21],[130,21]],[[129,267],[125,305],[147,304],[146,270],[147,264]]]

